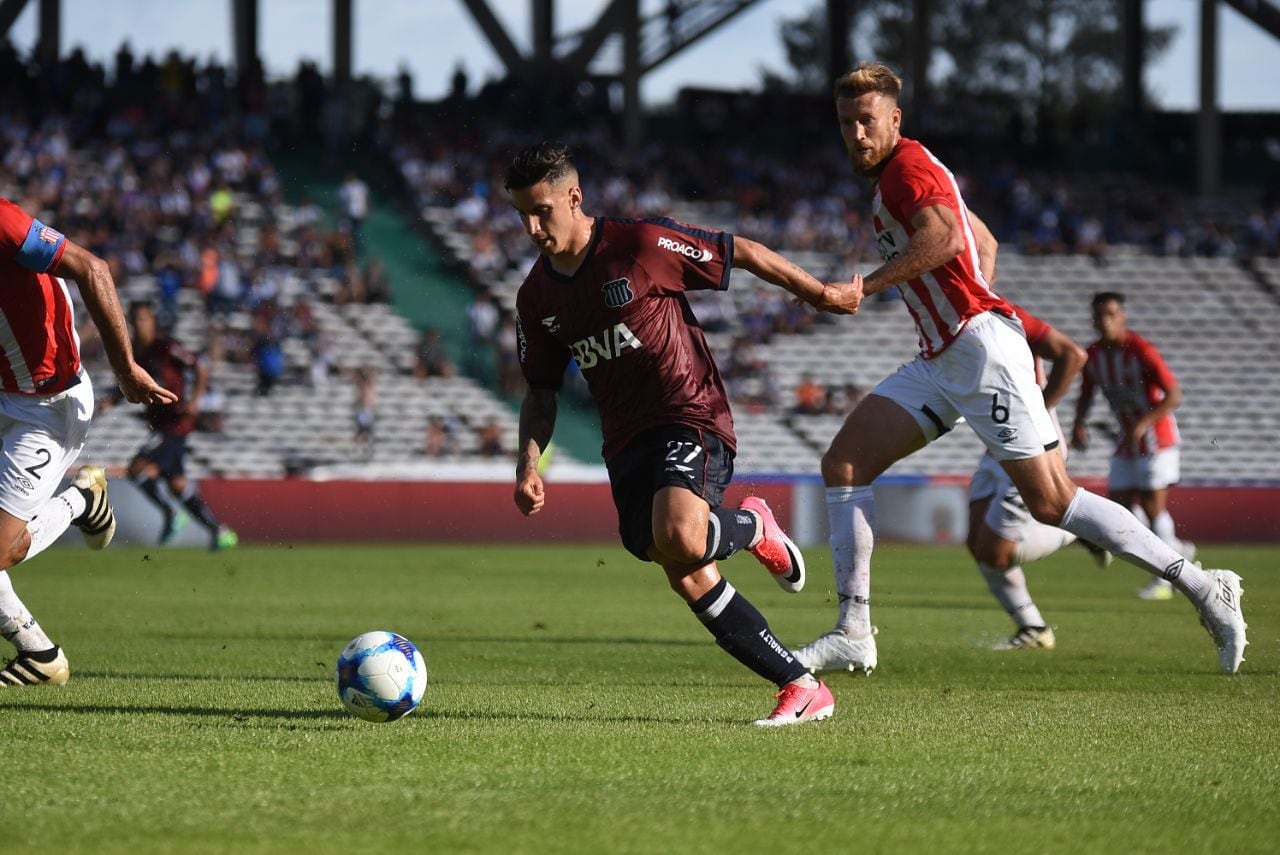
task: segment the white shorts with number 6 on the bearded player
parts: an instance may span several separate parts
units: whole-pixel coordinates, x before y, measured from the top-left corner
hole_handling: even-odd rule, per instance
[[[1027,459],[1059,445],[1023,325],[1002,315],[974,316],[947,349],[915,357],[872,394],[911,413],[931,443],[964,419],[996,459]]]

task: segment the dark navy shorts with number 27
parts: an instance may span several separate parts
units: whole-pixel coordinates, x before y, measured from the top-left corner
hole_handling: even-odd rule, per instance
[[[607,467],[622,545],[640,561],[652,561],[654,494],[682,486],[718,508],[733,477],[733,453],[713,433],[667,425],[639,434]]]

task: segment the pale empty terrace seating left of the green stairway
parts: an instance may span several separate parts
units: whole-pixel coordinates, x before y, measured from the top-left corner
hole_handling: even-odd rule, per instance
[[[244,218],[237,242],[255,246],[257,223]],[[289,209],[284,209],[282,232],[287,233]],[[387,471],[387,463],[422,459],[428,420],[440,416],[454,424],[458,451],[440,458],[447,462],[492,458],[476,454],[476,429],[493,419],[498,422],[503,448],[513,449],[517,424],[511,411],[488,389],[465,376],[419,379],[410,375],[417,332],[390,306],[381,303],[325,302],[335,283],[325,276],[285,269],[279,276],[278,294],[283,311],[300,298],[307,298],[324,337],[332,344],[333,367],[328,381],[312,388],[303,383],[310,374],[311,353],[296,339],[283,342],[285,379],[270,396],[257,397],[256,370],[232,361],[210,365],[212,385],[224,394],[225,430],[221,434],[195,433],[188,443],[189,474],[279,477],[316,466],[365,462]],[[133,276],[122,285],[122,303],[154,300],[151,276]],[[209,344],[211,317],[205,303],[192,291],[179,292],[175,337],[195,351]],[[237,310],[219,323],[233,332],[247,333],[252,317]],[[376,379],[376,426],[371,449],[355,442],[353,411],[356,389],[348,371],[372,367]],[[88,366],[97,396],[105,397],[115,380],[105,365]],[[122,403],[93,420],[90,439],[81,456],[108,467],[123,467],[147,436],[141,408]],[[394,467],[390,467],[392,471]]]

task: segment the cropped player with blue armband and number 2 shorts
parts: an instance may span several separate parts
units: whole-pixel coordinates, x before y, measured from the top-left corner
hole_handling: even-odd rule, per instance
[[[122,394],[140,403],[177,401],[133,360],[106,262],[0,198],[0,635],[17,649],[0,668],[0,687],[61,685],[70,677],[67,654],[18,598],[9,568],[72,525],[91,549],[106,548],[115,535],[100,466],[81,467],[72,485],[54,494],[93,416],[64,279],[79,285]]]

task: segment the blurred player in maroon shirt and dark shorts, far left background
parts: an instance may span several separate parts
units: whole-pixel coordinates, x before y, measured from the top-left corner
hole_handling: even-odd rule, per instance
[[[187,523],[189,513],[209,530],[210,549],[234,547],[238,543],[236,532],[219,523],[195,483],[187,479],[187,436],[196,429],[198,403],[209,384],[209,370],[198,356],[160,330],[151,303],[131,303],[129,324],[133,326],[133,353],[138,364],[179,396],[175,402],[146,406],[143,417],[151,435],[129,461],[129,479],[164,516],[159,538],[161,544],[173,540]],[[104,408],[114,401],[115,398],[104,401]],[[164,495],[160,479],[164,479],[169,495],[180,503],[180,508],[175,508]]]

